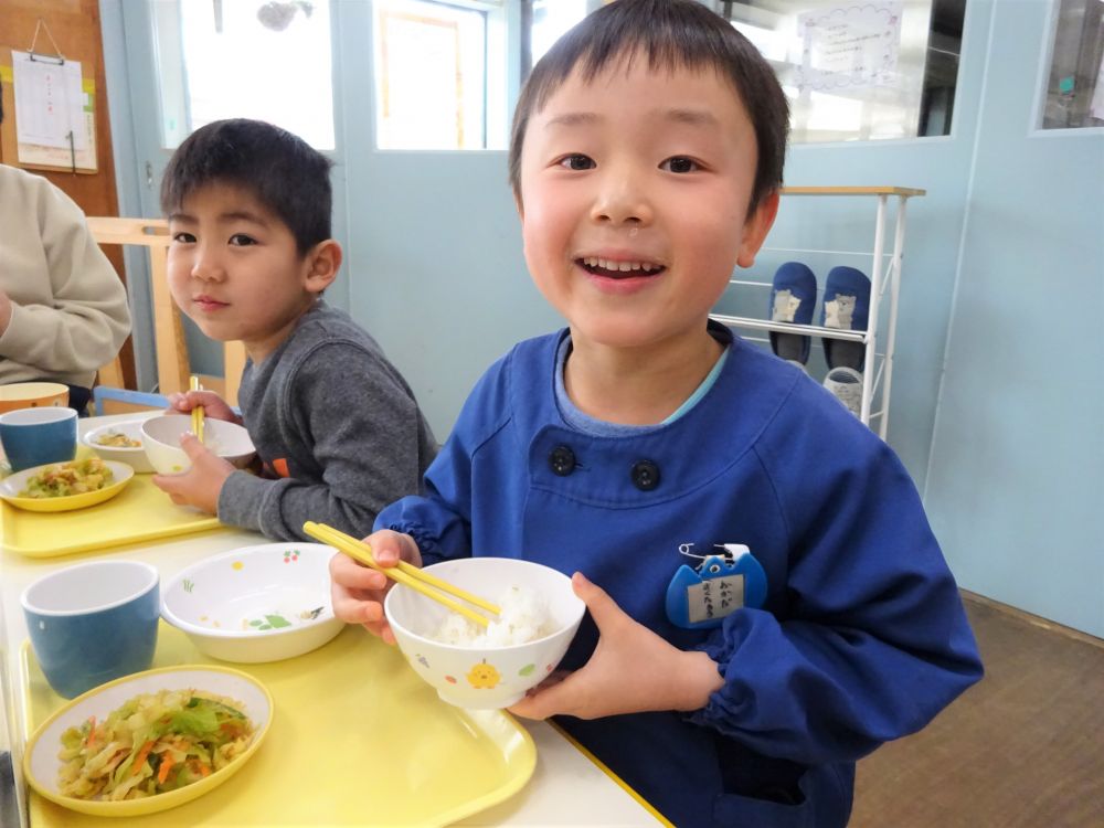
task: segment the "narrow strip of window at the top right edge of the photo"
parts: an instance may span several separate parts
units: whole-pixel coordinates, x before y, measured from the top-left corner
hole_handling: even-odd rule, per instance
[[[1043,129],[1104,127],[1104,2],[1060,0]]]

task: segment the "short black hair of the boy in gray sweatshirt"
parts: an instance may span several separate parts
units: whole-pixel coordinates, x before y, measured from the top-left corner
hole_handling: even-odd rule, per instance
[[[215,120],[177,148],[161,180],[161,211],[171,215],[212,183],[248,190],[295,236],[305,256],[330,237],[332,162],[296,135],[263,120]]]

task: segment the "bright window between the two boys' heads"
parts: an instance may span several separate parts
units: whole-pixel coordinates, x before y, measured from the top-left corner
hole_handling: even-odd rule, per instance
[[[503,147],[500,3],[375,0],[374,6],[376,146]]]

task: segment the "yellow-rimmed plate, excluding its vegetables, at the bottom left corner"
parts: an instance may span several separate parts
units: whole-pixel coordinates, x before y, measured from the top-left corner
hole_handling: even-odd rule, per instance
[[[253,722],[255,730],[252,743],[241,756],[199,782],[145,799],[100,802],[64,796],[59,792],[57,772],[63,763],[57,758],[57,753],[62,746],[62,733],[66,729],[79,725],[92,715],[103,721],[108,713],[139,693],[187,689],[204,690],[242,703],[243,711]],[[273,698],[267,688],[252,676],[238,670],[210,665],[147,670],[89,690],[46,719],[26,744],[23,773],[28,784],[46,799],[82,814],[97,817],[140,817],[157,814],[213,790],[237,773],[257,752],[257,747],[268,733],[272,718]]]

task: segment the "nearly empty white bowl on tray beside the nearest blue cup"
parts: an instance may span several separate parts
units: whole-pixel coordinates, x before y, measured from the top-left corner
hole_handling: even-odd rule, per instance
[[[277,661],[341,631],[330,603],[332,546],[264,543],[192,564],[162,591],[161,617],[212,658]]]

